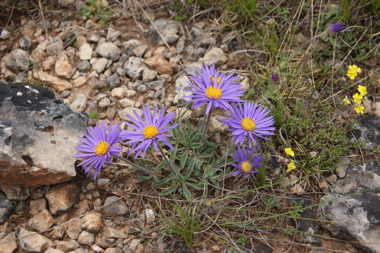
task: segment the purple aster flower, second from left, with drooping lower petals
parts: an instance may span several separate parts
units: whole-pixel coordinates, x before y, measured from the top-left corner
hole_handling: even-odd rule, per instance
[[[144,118],[146,120],[146,123],[135,111],[133,111],[133,113],[135,113],[135,116],[138,120],[132,118],[132,116],[127,114],[128,119],[134,124],[123,121],[128,126],[136,129],[136,131],[122,130],[122,138],[124,140],[130,140],[125,144],[133,143],[128,155],[137,150],[135,159],[141,151],[142,157],[145,157],[145,153],[152,142],[154,145],[154,150],[157,154],[157,139],[162,140],[169,148],[174,150],[173,145],[171,145],[168,140],[166,140],[167,137],[172,137],[173,135],[164,134],[168,130],[178,126],[178,124],[174,124],[172,126],[166,127],[166,125],[169,124],[172,119],[176,118],[174,116],[174,112],[171,112],[164,117],[165,107],[163,107],[160,115],[157,118],[158,106],[156,105],[152,118],[152,116],[150,116],[149,105],[147,105],[146,110],[144,105],[142,105],[142,111],[144,111]],[[139,142],[141,142],[141,144],[137,145]]]

